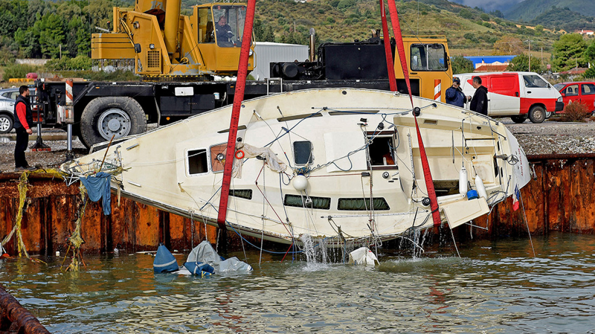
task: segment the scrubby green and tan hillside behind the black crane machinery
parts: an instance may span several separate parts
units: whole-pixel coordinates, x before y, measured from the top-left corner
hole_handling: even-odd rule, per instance
[[[305,42],[311,27],[319,42],[366,39],[381,27],[377,0],[259,0],[256,5],[256,19],[278,42]],[[494,43],[504,36],[531,39],[533,46],[549,52],[558,39],[552,31],[531,29],[446,0],[397,2],[397,8],[403,34],[444,34],[457,54],[491,54]]]

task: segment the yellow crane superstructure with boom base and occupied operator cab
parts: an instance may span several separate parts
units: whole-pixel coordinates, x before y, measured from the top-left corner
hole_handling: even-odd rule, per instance
[[[180,15],[180,0],[137,0],[114,7],[112,31],[94,33],[91,58],[134,62],[148,81],[206,81],[236,75],[245,4],[211,3]],[[253,69],[253,45],[248,71]]]

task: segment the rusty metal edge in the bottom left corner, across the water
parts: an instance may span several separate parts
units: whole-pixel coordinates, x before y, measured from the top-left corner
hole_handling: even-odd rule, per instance
[[[0,285],[0,333],[49,334],[39,320]]]

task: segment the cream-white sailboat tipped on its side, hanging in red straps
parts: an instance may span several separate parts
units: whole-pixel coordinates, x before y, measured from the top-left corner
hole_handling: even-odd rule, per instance
[[[469,222],[528,183],[527,158],[501,122],[421,97],[413,103],[442,223]],[[61,169],[101,168],[123,196],[217,225],[230,112],[129,137]],[[315,89],[259,97],[242,103],[238,129],[228,229],[339,246],[434,225],[407,95]]]

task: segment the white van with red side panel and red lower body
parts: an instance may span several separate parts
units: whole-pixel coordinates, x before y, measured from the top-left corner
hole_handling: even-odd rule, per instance
[[[541,123],[550,113],[564,109],[562,95],[541,75],[534,72],[494,72],[456,74],[461,79],[461,89],[473,96],[473,77],[481,78],[487,87],[488,116],[510,116],[512,121]],[[469,103],[466,104],[469,108]]]

